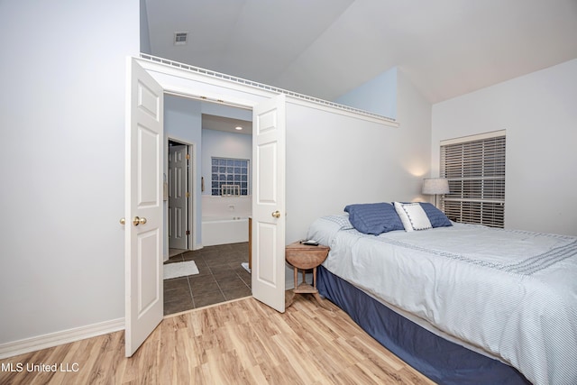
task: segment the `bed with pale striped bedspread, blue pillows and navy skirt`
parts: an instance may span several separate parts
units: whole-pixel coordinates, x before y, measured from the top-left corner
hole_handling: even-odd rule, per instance
[[[318,289],[405,362],[438,383],[577,384],[577,237],[345,211],[309,228],[331,248]]]

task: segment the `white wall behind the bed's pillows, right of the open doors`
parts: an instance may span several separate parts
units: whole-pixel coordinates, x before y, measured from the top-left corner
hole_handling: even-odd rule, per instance
[[[421,199],[429,174],[431,105],[398,71],[398,128],[287,106],[287,235],[352,203]]]

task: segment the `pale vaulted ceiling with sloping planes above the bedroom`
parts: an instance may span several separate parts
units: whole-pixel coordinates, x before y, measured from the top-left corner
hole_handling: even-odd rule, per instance
[[[577,58],[577,0],[145,5],[152,55],[327,100],[394,67],[437,103]]]

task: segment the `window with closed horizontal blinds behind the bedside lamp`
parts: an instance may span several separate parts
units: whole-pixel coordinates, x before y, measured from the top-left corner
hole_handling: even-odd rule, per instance
[[[441,177],[449,179],[444,213],[453,221],[503,227],[505,132],[441,142]]]

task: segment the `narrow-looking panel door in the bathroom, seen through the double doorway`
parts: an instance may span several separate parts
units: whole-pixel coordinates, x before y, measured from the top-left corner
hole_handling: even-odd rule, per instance
[[[169,146],[169,247],[173,249],[188,249],[187,147]]]

